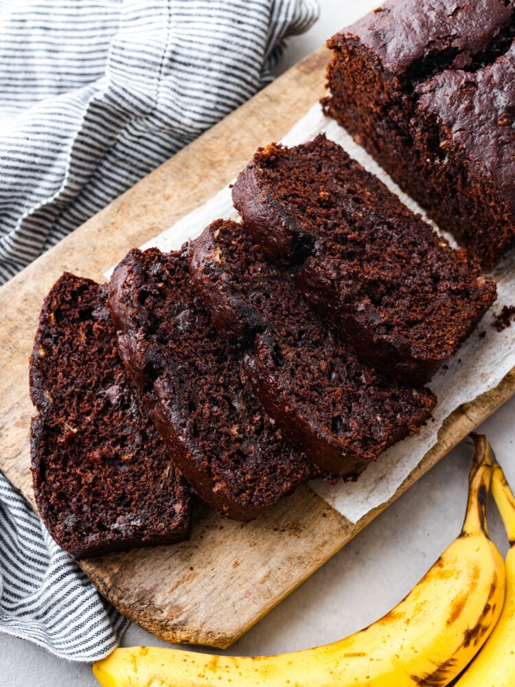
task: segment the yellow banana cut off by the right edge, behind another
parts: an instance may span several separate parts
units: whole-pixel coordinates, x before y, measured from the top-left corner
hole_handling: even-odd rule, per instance
[[[494,630],[465,673],[461,675],[456,687],[515,685],[515,496],[498,464],[492,475],[492,495],[511,544],[505,561],[506,596]]]

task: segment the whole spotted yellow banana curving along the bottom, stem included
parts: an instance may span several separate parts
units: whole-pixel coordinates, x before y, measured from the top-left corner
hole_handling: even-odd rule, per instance
[[[93,673],[104,687],[448,684],[479,651],[503,605],[503,559],[485,524],[493,469],[488,458],[479,440],[459,537],[398,606],[361,632],[314,649],[262,657],[116,649],[93,665]]]

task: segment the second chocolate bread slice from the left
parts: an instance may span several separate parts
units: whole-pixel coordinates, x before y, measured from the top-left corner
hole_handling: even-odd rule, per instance
[[[238,350],[212,326],[190,280],[187,249],[130,251],[111,278],[109,305],[128,370],[207,504],[248,520],[314,476],[251,392]]]

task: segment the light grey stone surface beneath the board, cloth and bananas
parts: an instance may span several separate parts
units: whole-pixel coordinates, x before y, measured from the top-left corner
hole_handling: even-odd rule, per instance
[[[334,31],[376,5],[376,0],[320,0],[318,23],[292,41],[280,74],[319,47]],[[514,329],[515,333],[515,329]],[[515,486],[515,397],[479,428]],[[422,477],[299,589],[225,653],[260,655],[294,651],[339,639],[382,616],[400,601],[452,541],[464,517],[472,457],[464,441]],[[494,508],[488,523],[503,551],[507,541]],[[129,627],[122,645],[165,642]],[[214,653],[209,651],[209,653]],[[94,687],[89,664],[57,659],[44,649],[0,634],[1,687]]]

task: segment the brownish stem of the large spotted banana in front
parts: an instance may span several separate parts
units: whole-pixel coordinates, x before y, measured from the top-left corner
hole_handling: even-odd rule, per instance
[[[468,503],[461,534],[484,532],[488,536],[486,524],[486,502],[494,466],[497,465],[494,451],[483,434],[471,434],[475,444],[474,461],[470,469],[468,483]]]

